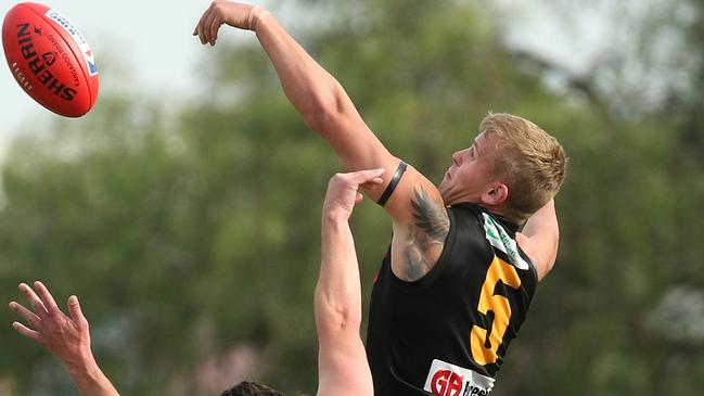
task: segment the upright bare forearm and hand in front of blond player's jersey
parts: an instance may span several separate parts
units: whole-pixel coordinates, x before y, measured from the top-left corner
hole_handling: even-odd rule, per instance
[[[320,278],[315,293],[319,341],[318,395],[371,396],[374,392],[359,335],[361,286],[349,216],[360,186],[382,183],[384,169],[335,175],[322,212]]]

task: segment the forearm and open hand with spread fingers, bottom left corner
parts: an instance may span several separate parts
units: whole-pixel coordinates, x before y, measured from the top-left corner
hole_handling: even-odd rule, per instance
[[[28,324],[14,322],[15,330],[61,360],[82,396],[119,396],[90,350],[88,320],[80,310],[78,297],[68,298],[69,316],[66,316],[41,282],[35,282],[34,288],[20,284],[20,291],[27,297],[31,309],[16,302],[10,303],[10,309]]]

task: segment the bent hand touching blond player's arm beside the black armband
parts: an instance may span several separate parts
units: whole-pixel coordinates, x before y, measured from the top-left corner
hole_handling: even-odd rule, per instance
[[[359,187],[372,187],[383,182],[381,176],[384,168],[358,170],[349,174],[336,174],[328,183],[325,203],[323,204],[324,216],[342,216],[348,219],[351,216],[355,204],[362,200]]]

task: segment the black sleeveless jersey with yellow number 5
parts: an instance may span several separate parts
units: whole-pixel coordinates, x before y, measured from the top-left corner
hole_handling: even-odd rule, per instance
[[[474,204],[448,208],[436,265],[405,282],[382,263],[367,355],[375,396],[487,395],[538,284],[517,227]]]

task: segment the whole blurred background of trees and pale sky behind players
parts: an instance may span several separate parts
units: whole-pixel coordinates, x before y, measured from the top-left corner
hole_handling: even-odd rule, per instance
[[[125,395],[244,379],[315,394],[319,215],[341,168],[253,34],[216,48],[190,36],[208,4],[54,1],[101,71],[80,119],[0,73],[0,395],[76,394],[11,327],[7,303],[33,280],[81,298]],[[704,1],[264,5],[432,180],[488,111],[565,146],[558,264],[494,395],[701,394]],[[366,307],[389,226],[369,202],[353,219]]]

